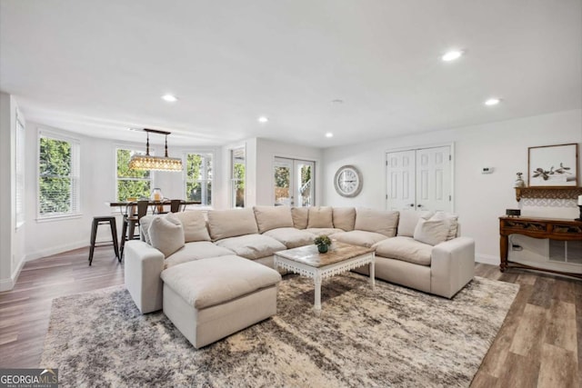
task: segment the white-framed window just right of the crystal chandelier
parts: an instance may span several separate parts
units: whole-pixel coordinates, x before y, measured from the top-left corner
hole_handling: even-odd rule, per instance
[[[212,205],[212,154],[186,154],[185,198]]]

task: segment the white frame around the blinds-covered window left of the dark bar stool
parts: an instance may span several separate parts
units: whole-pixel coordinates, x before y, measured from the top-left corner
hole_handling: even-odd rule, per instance
[[[50,138],[60,142],[71,144],[71,211],[67,213],[50,213],[41,214],[40,198],[40,141],[41,139]],[[78,218],[82,214],[81,210],[81,140],[75,137],[61,134],[59,132],[47,130],[45,128],[37,129],[36,136],[36,222],[55,221],[67,218]]]

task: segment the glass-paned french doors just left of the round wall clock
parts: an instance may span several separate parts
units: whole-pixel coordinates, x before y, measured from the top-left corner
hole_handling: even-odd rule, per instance
[[[315,162],[276,157],[273,170],[275,205],[302,207],[314,204]]]

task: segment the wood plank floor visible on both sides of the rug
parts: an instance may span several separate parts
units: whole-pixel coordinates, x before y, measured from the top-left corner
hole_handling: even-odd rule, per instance
[[[0,368],[39,367],[51,300],[124,283],[112,251],[88,248],[26,263],[11,291],[0,293]],[[472,387],[581,387],[582,282],[477,264],[477,276],[520,284],[505,323]]]

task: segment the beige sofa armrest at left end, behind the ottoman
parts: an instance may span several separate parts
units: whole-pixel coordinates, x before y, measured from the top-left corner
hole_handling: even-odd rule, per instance
[[[164,254],[143,241],[125,243],[125,287],[141,313],[162,308]]]

